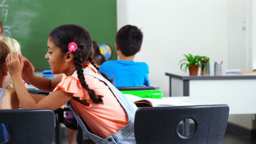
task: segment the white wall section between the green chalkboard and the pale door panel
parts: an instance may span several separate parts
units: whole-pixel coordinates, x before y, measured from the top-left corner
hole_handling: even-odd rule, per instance
[[[183,73],[179,61],[184,54],[205,55],[224,61],[228,67],[227,0],[117,0],[118,29],[136,25],[144,33],[135,61],[149,65],[149,80],[168,95],[166,72]],[[123,11],[126,10],[126,13]]]

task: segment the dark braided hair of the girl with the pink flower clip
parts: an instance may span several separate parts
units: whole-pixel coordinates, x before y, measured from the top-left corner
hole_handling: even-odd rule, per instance
[[[69,51],[69,43],[74,42],[77,44],[78,48],[73,52],[73,59],[75,69],[77,70],[78,79],[81,85],[88,91],[92,102],[96,104],[103,104],[102,95],[97,95],[94,92],[94,90],[88,87],[83,73],[84,62],[90,62],[94,65],[91,58],[92,45],[88,31],[86,31],[86,29],[78,25],[61,25],[53,29],[53,31],[50,32],[48,37],[53,39],[54,44],[57,47],[60,47],[63,53],[67,53]],[[96,69],[98,70],[98,68]],[[103,74],[103,76],[105,77],[106,75]],[[105,78],[109,80],[107,77]]]

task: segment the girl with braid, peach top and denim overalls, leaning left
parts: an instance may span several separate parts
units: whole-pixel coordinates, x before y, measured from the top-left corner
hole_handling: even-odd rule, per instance
[[[23,109],[56,110],[65,104],[95,143],[136,143],[133,122],[137,107],[115,88],[92,61],[91,38],[83,27],[61,25],[48,35],[45,58],[53,74],[47,79],[33,75],[31,65],[19,53],[5,59]],[[32,97],[22,78],[45,92]],[[88,127],[85,127],[85,124]]]

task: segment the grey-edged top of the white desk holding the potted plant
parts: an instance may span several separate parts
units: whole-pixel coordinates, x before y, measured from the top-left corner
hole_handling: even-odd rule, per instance
[[[165,75],[174,77],[181,80],[248,80],[256,79],[256,74],[225,74],[222,76],[212,76],[212,75],[199,75],[199,76],[182,76],[171,73],[165,73]]]

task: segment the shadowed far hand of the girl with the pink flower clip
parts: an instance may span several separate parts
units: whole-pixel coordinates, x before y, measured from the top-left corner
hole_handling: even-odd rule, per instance
[[[25,81],[30,81],[34,73],[34,66],[27,58],[24,58],[24,67],[22,69],[22,79]]]

